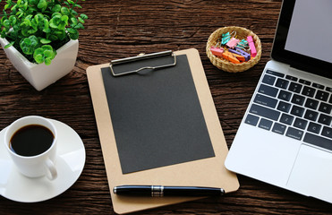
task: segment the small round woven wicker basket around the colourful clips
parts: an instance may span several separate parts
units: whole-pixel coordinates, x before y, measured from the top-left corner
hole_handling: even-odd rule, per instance
[[[222,34],[226,32],[231,33],[233,30],[236,31],[237,39],[247,39],[247,36],[252,37],[257,50],[257,56],[251,57],[251,59],[247,62],[243,62],[241,64],[233,64],[232,62],[227,61],[223,57],[214,56],[211,53],[210,47],[214,47],[217,45],[217,41],[220,41]],[[217,66],[218,69],[230,73],[238,73],[250,69],[254,64],[257,64],[260,61],[260,56],[261,56],[261,44],[259,37],[256,34],[254,34],[251,30],[247,30],[236,26],[220,28],[215,32],[213,32],[209,36],[206,49],[207,49],[207,56],[209,57],[211,63]]]

